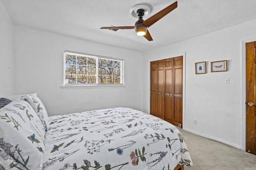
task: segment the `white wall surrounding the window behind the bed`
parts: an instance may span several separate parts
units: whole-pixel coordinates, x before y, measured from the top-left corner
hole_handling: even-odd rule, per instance
[[[110,107],[142,110],[142,53],[17,25],[14,32],[15,93],[36,92],[49,115]],[[64,50],[124,59],[126,86],[62,89]]]

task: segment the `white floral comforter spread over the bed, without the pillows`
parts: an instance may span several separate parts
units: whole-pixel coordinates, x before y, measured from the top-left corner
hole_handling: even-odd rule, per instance
[[[172,170],[192,166],[178,129],[130,108],[49,117],[43,170]]]

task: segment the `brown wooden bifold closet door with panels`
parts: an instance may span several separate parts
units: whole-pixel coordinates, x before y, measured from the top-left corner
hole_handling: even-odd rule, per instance
[[[150,114],[182,127],[183,57],[150,63]]]

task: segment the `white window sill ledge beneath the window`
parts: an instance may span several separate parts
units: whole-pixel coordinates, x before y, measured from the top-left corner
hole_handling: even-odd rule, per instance
[[[108,85],[72,85],[61,86],[62,89],[82,89],[82,88],[125,88],[124,84],[108,84]]]

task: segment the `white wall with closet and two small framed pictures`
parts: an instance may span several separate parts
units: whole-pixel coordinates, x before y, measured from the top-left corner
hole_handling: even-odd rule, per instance
[[[185,53],[183,128],[242,149],[241,42],[255,38],[255,30],[256,20],[144,53],[144,111],[150,110],[150,61]],[[228,71],[210,72],[210,62],[221,60],[228,60]],[[207,74],[195,74],[195,63],[202,61]]]

